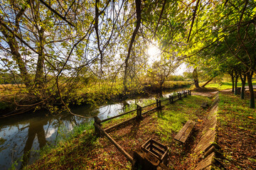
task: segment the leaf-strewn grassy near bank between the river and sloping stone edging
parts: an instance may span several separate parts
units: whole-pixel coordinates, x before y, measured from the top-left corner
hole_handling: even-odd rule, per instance
[[[200,107],[203,101],[210,102],[205,96],[188,96],[174,104],[169,104],[166,101],[163,103],[166,106],[161,111],[148,113],[142,121],[134,121],[117,128],[110,132],[110,135],[131,155],[146,140],[154,138],[171,148],[168,164],[170,169],[186,168],[191,164],[188,158],[208,113]],[[103,126],[108,127],[131,116],[125,115],[107,122]],[[186,123],[186,120],[196,120],[197,125],[189,146],[182,147],[174,141],[174,136]],[[105,137],[96,138],[93,135],[92,126],[85,132],[82,130],[80,132],[70,140],[60,142],[57,147],[43,152],[41,159],[31,166],[27,166],[26,169],[131,169],[132,165],[109,140]]]

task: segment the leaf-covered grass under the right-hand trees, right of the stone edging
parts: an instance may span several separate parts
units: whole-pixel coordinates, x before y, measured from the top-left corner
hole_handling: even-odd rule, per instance
[[[248,103],[228,92],[220,94],[217,141],[225,169],[256,169],[256,111]]]

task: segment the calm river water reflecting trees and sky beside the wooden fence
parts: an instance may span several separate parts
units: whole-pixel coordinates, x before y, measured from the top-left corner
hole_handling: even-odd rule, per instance
[[[171,94],[171,91],[166,92],[164,97]],[[84,116],[98,115],[103,120],[124,113],[124,109],[134,109],[135,103],[143,106],[142,103],[146,105],[154,102],[154,96],[151,96],[110,103],[97,108],[79,106],[72,108],[72,112]],[[55,145],[61,136],[65,136],[81,123],[89,125],[93,123],[93,118],[80,118],[69,113],[52,115],[46,111],[36,111],[0,119],[0,169],[10,169],[14,165],[16,169],[22,169],[26,164],[32,164],[38,159],[38,151],[46,143]],[[23,154],[28,154],[28,157],[23,157]]]

